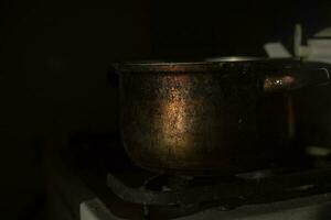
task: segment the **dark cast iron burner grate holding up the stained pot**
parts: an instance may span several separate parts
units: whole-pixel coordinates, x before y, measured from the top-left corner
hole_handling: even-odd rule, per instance
[[[156,175],[147,177],[138,187],[108,174],[107,185],[122,200],[143,205],[146,215],[158,209],[158,212],[178,217],[212,207],[225,211],[244,205],[312,195],[322,195],[323,199],[330,200],[331,168],[279,173],[265,170],[233,177]]]

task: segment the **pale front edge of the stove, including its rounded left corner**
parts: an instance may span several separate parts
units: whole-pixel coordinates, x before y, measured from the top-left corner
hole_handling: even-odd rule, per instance
[[[241,220],[327,220],[330,219],[331,194],[320,194],[286,201],[244,206],[231,211],[222,211],[221,207],[211,208],[193,215],[168,219],[204,220],[204,219],[241,219]],[[125,206],[125,205],[124,205]],[[124,220],[100,199],[90,199],[81,205],[81,220]],[[137,216],[135,219],[143,219]],[[167,219],[154,215],[150,219]]]

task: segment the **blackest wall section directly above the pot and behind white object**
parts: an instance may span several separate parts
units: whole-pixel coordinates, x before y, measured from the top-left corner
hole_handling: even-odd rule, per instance
[[[266,56],[281,41],[292,51],[296,23],[311,35],[331,25],[328,0],[151,1],[152,53],[157,57]]]

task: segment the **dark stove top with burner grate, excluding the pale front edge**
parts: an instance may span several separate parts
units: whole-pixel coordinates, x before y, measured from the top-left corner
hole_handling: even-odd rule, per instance
[[[135,219],[136,215],[146,219],[178,219],[211,210],[220,213],[275,204],[288,209],[331,200],[329,163],[234,176],[172,176],[135,166],[118,136],[78,134],[63,155],[120,218]]]

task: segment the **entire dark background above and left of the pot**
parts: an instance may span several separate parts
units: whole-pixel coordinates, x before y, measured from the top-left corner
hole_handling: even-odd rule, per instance
[[[327,0],[2,0],[1,218],[31,212],[44,145],[118,130],[111,63],[266,56],[264,43],[290,48],[297,22],[310,35],[331,24],[330,12]]]

